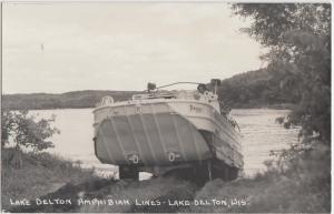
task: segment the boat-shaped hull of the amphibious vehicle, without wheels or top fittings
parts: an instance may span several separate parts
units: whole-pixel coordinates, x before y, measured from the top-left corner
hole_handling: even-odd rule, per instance
[[[239,134],[206,103],[124,102],[94,113],[95,151],[102,163],[170,166],[217,159],[243,167]]]

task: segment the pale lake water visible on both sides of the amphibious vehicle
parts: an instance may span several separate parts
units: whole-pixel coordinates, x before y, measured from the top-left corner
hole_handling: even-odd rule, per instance
[[[101,164],[94,153],[92,109],[65,109],[31,111],[38,118],[56,115],[55,126],[60,134],[52,136],[55,149],[48,150],[65,159],[80,161],[84,167],[95,167],[99,174],[116,173],[114,165]],[[245,174],[252,176],[265,170],[263,162],[268,159],[271,150],[288,147],[297,142],[297,129],[286,130],[275,123],[277,116],[286,115],[287,110],[247,109],[233,110],[243,135],[243,154]],[[140,174],[148,177],[147,174]]]

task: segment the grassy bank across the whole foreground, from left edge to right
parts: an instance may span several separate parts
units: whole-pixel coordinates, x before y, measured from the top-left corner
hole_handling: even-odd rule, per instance
[[[2,208],[9,198],[71,198],[71,205],[32,205],[13,212],[79,213],[330,213],[330,150],[320,147],[289,163],[267,164],[254,179],[214,180],[205,186],[175,177],[115,181],[96,177],[92,171],[72,166],[50,154],[2,151]],[[287,165],[285,165],[287,166]],[[92,204],[78,204],[84,200]],[[94,204],[97,200],[110,204]],[[214,203],[219,201],[219,203]],[[108,202],[109,202],[108,201]],[[176,205],[176,203],[178,205]],[[226,202],[226,204],[222,203]],[[146,205],[145,205],[146,204]]]

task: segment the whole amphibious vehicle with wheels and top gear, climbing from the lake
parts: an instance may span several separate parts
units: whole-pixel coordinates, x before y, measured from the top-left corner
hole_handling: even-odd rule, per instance
[[[174,84],[197,90],[163,90]],[[243,170],[240,133],[228,108],[219,103],[217,86],[177,82],[115,102],[105,96],[94,110],[95,152],[101,163],[119,166],[119,179],[155,176],[174,171],[195,177],[234,180]]]

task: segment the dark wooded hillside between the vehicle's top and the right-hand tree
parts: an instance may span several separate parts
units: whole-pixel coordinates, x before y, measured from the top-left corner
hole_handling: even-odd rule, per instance
[[[232,108],[279,106],[299,98],[284,88],[286,77],[267,69],[248,71],[222,81],[220,100]]]

